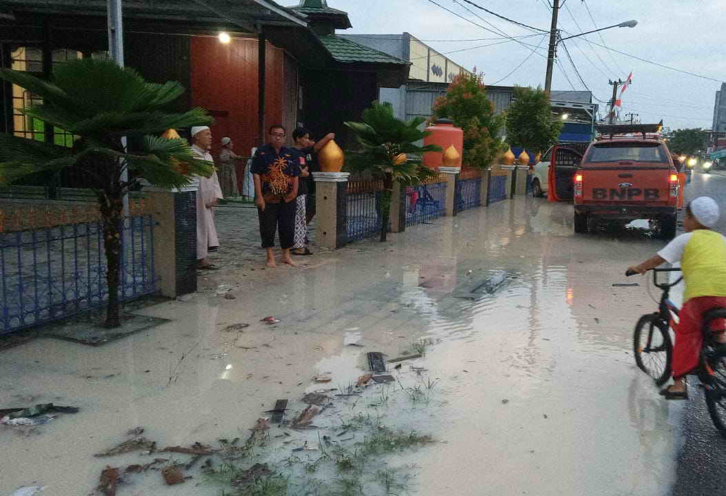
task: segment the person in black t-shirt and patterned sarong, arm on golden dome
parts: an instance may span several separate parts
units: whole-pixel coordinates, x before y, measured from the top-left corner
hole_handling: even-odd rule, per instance
[[[312,255],[305,246],[308,238],[307,225],[315,215],[315,182],[311,173],[319,170],[315,154],[331,139],[335,139],[335,134],[329,133],[316,143],[310,139],[310,131],[306,128],[297,128],[293,131],[295,144],[292,149],[298,152],[301,165],[293,255]]]

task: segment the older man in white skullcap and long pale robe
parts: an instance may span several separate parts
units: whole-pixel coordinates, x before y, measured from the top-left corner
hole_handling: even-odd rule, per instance
[[[205,125],[192,128],[192,153],[201,160],[214,163],[209,148],[212,146],[212,132]],[[209,260],[209,252],[219,249],[219,239],[214,226],[213,207],[222,196],[216,170],[208,178],[195,176],[197,182],[197,267],[206,270],[218,269]]]

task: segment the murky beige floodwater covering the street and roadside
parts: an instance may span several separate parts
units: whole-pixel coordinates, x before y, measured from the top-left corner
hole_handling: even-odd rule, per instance
[[[682,405],[662,401],[635,368],[632,328],[656,303],[646,278],[622,274],[664,243],[639,226],[574,236],[571,223],[570,205],[519,197],[386,244],[256,270],[245,284],[211,274],[238,286],[236,299],[200,293],[147,307],[138,313],[170,321],[102,347],[37,339],[4,351],[0,408],[81,411],[0,426],[0,495],[36,484],[44,495],[88,495],[108,463],[143,463],[138,453],[93,457],[136,426],[160,447],[247,437],[275,400],[296,409],[306,392],[356,381],[366,352],[394,357],[422,338],[425,357],[391,367],[404,381],[409,365],[425,367],[437,381],[431,412],[406,418],[439,442],[396,457],[417,466],[412,492],[662,495]],[[261,323],[268,315],[281,322]],[[234,323],[250,326],[224,331]],[[321,386],[318,375],[333,380]],[[152,474],[117,494],[220,492],[196,475],[166,487]]]

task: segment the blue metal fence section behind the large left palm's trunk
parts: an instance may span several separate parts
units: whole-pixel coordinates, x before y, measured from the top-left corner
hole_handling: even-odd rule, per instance
[[[121,300],[156,290],[152,215],[126,220]],[[0,224],[0,334],[101,307],[108,297],[98,220],[14,230]]]

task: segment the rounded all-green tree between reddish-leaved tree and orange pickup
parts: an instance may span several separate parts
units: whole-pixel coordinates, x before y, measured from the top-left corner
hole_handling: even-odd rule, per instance
[[[558,141],[564,123],[552,118],[550,95],[541,88],[514,88],[507,109],[507,141],[530,152],[544,152]]]

